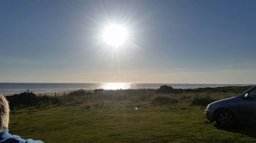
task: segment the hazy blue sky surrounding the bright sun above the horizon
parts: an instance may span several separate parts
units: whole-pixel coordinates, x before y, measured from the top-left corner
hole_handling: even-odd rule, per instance
[[[254,84],[255,15],[253,0],[0,1],[0,82]]]

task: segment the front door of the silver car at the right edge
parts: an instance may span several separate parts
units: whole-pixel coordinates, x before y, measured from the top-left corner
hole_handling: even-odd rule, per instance
[[[256,89],[244,94],[238,102],[238,119],[242,123],[256,124]]]

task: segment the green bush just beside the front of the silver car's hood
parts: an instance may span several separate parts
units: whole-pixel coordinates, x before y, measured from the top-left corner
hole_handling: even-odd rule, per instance
[[[212,99],[210,96],[206,95],[205,97],[200,97],[200,96],[196,95],[190,105],[192,105],[192,106],[195,106],[195,105],[207,106],[208,104],[210,104],[214,101],[216,101],[216,100]]]

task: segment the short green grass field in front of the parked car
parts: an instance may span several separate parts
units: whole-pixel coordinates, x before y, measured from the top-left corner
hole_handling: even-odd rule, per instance
[[[191,104],[195,98],[218,100],[237,92],[204,90],[156,94],[155,90],[120,90],[78,93],[62,97],[65,102],[61,104],[13,110],[9,130],[23,138],[61,143],[256,142],[254,126],[220,128],[206,122],[205,106]],[[163,102],[156,100],[157,97],[172,100],[165,102],[163,98]]]

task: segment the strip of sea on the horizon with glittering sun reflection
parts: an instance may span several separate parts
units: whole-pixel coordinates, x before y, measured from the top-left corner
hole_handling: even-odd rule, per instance
[[[117,89],[158,89],[161,85],[170,85],[176,89],[215,88],[243,86],[249,84],[188,84],[188,83],[0,83],[0,92],[4,95],[19,94],[29,89],[33,93],[62,92],[72,90],[117,90]]]

